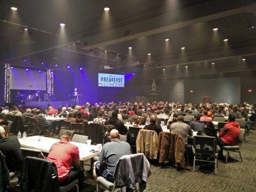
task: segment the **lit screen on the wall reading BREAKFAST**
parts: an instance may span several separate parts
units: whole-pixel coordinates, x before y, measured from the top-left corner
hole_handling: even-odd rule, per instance
[[[99,87],[124,87],[124,75],[98,73]]]

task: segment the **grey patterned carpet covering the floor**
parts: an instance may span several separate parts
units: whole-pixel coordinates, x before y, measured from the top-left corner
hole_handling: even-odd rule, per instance
[[[228,164],[219,161],[217,175],[211,167],[196,166],[193,172],[191,166],[177,171],[173,166],[160,167],[151,163],[152,175],[145,192],[256,192],[256,131],[251,130],[245,137],[241,149],[243,162],[238,153],[231,152]],[[88,168],[85,166],[85,170]],[[12,180],[13,192],[19,191],[16,181]],[[92,176],[86,174],[83,192],[93,192],[93,183]]]

